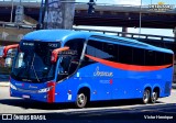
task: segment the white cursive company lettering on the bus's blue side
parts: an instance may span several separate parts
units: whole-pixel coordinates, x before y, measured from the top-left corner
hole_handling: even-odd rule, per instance
[[[99,67],[96,68],[96,71],[94,72],[95,77],[113,77],[112,71],[100,71]]]

